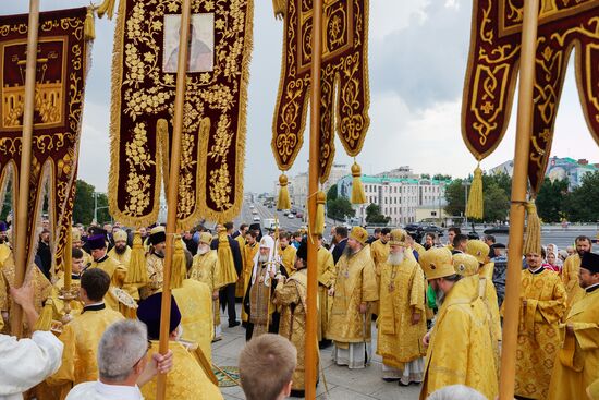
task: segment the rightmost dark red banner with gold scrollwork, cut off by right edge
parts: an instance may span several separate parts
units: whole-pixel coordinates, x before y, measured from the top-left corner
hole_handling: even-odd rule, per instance
[[[521,56],[523,1],[474,1],[462,133],[478,160],[496,149],[510,120]],[[599,143],[599,2],[541,0],[528,165],[535,193],[547,169],[563,81],[574,48],[583,111]]]

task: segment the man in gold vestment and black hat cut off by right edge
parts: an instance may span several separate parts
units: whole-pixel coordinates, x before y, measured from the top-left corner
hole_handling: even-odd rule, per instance
[[[585,389],[599,379],[599,255],[583,255],[579,284],[585,293],[560,325],[550,400],[585,399]]]

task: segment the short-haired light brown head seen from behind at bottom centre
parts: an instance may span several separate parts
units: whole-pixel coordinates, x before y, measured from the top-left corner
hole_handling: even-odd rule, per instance
[[[297,350],[279,335],[260,335],[240,355],[240,378],[247,400],[278,400],[291,393]]]

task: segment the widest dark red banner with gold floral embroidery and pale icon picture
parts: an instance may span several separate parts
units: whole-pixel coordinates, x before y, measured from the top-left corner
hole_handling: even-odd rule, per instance
[[[192,2],[178,229],[241,209],[253,7]],[[169,175],[181,1],[121,0],[118,11],[109,205],[139,227],[156,222]]]

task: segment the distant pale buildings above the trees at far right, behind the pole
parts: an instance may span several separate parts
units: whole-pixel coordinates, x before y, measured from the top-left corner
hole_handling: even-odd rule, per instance
[[[514,161],[505,161],[489,170],[490,173],[506,173],[512,177],[514,171]],[[545,175],[551,181],[567,180],[570,191],[578,187],[583,183],[583,177],[587,173],[599,171],[599,163],[589,163],[586,159],[575,160],[570,157],[551,157],[547,165]]]

